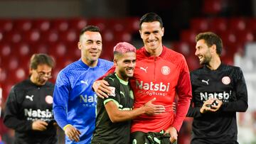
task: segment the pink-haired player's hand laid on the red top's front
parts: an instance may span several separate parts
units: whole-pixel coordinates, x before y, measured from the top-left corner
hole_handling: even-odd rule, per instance
[[[160,114],[165,112],[164,106],[152,104],[152,102],[155,100],[156,98],[151,99],[146,104],[144,104],[144,111],[146,111],[146,115],[154,115],[154,114]]]

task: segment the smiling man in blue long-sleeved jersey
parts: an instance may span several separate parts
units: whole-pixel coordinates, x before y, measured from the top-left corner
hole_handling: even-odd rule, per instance
[[[53,92],[53,113],[65,131],[65,143],[90,143],[95,130],[96,99],[92,83],[112,67],[100,59],[102,37],[96,26],[87,26],[80,33],[80,60],[58,74]]]

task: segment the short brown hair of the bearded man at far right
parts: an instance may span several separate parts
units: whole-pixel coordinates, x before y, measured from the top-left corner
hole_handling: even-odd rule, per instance
[[[213,32],[199,33],[196,35],[196,42],[198,40],[205,40],[206,45],[211,47],[212,45],[216,45],[216,52],[218,55],[221,55],[223,49],[223,42],[221,38]]]

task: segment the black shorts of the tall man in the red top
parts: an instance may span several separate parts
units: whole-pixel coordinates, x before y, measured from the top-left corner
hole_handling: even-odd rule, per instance
[[[170,144],[170,135],[166,133],[164,135],[164,131],[160,133],[144,133],[142,131],[136,131],[131,133],[131,143],[132,144]]]

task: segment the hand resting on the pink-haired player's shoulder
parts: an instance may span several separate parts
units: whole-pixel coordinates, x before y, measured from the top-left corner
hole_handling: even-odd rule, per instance
[[[95,90],[97,96],[104,99],[107,98],[107,94],[111,93],[110,84],[105,80],[97,80],[93,82],[92,88]]]

